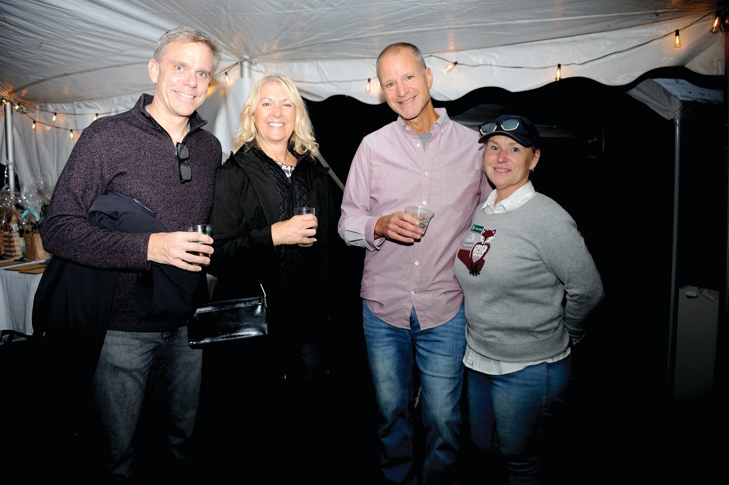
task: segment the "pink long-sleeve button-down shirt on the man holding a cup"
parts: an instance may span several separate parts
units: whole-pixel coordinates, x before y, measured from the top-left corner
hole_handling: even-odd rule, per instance
[[[453,259],[476,205],[491,192],[481,170],[478,133],[439,118],[422,141],[401,118],[370,133],[354,155],[338,230],[348,245],[367,249],[362,290],[378,318],[410,328],[415,307],[422,329],[451,320],[463,301]],[[421,240],[410,245],[374,239],[381,216],[426,205],[435,215]]]

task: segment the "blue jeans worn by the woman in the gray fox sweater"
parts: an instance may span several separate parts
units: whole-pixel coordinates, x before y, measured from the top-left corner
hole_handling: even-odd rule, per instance
[[[471,439],[483,452],[500,450],[510,484],[539,480],[539,441],[564,402],[572,357],[493,376],[467,369]]]

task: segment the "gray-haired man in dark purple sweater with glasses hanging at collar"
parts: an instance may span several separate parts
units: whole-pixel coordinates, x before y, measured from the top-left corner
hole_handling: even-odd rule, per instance
[[[44,247],[54,256],[116,274],[109,321],[98,322],[106,326],[106,336],[92,384],[106,471],[115,479],[131,474],[132,439],[150,375],[165,411],[157,425],[175,468],[188,460],[202,352],[190,349],[184,318],[140,318],[134,288],[152,263],[200,272],[199,264],[209,262],[188,251],[209,255],[212,239],[187,232],[187,226],[208,221],[214,173],[222,160],[219,141],[202,129],[206,122],[195,111],[220,55],[219,44],[196,29],[178,27],[161,36],[148,66],[155,95],[141,95],[130,111],[98,119],[84,130],[44,223]],[[110,231],[90,224],[90,205],[107,190],[154,210],[169,232]]]

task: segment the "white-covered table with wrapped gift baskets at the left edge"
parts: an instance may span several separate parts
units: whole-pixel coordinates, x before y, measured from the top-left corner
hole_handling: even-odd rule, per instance
[[[46,200],[0,194],[0,332],[33,334],[33,299],[51,255],[43,250]]]

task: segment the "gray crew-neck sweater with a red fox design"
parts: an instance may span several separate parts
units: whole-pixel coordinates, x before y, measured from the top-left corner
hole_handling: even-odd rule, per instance
[[[496,360],[564,352],[604,294],[577,224],[543,194],[507,213],[476,208],[455,267],[469,347]]]

